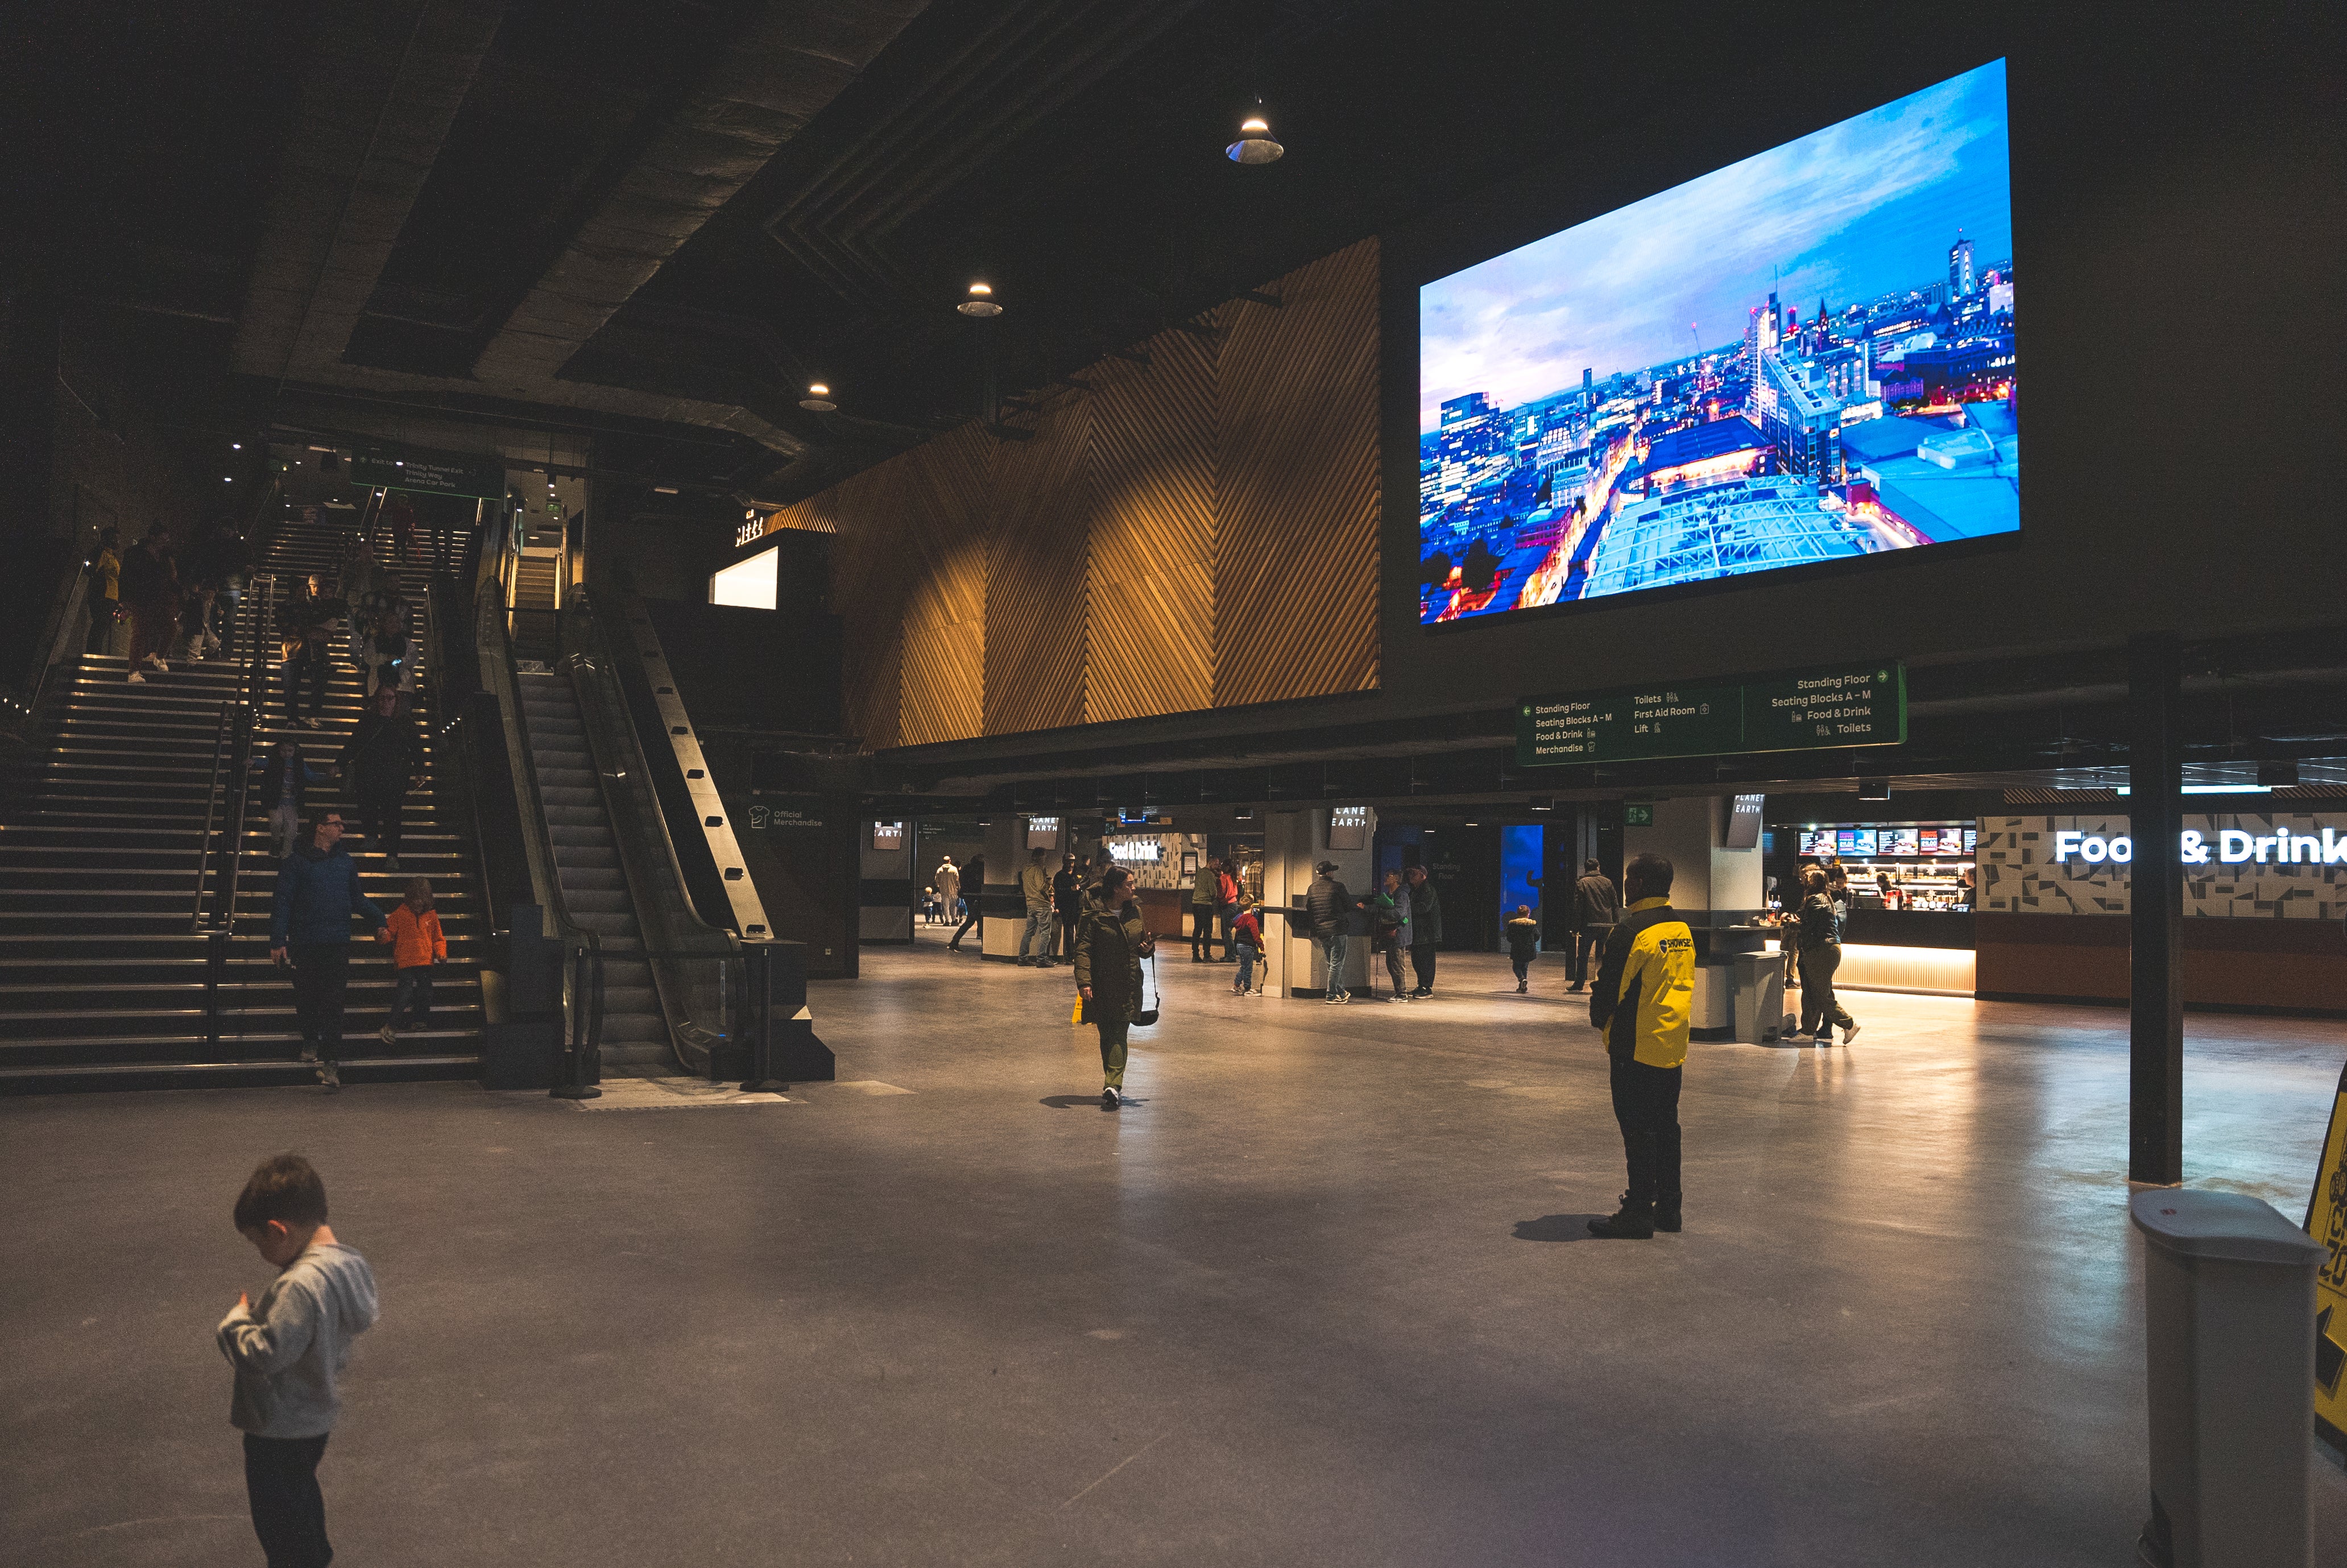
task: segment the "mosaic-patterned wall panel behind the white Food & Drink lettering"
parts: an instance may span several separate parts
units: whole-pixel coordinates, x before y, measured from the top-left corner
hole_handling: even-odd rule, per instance
[[[2199,833],[2209,859],[2185,866],[2185,915],[2232,920],[2340,920],[2347,918],[2347,815],[2335,812],[2220,812],[2187,815],[2185,831]],[[2129,833],[2126,817],[1983,817],[1981,906],[2011,915],[2124,915],[2126,866],[2112,861],[2054,859],[2054,833],[2086,833],[2110,843]],[[2265,859],[2223,859],[2223,833],[2241,833],[2241,852]],[[2328,831],[2328,836],[2326,836]],[[2291,847],[2277,857],[2274,840]],[[2312,845],[2312,847],[2309,847]],[[2338,850],[2340,859],[2326,859]]]

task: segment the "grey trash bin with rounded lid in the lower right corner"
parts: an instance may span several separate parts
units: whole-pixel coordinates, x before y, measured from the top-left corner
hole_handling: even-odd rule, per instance
[[[2326,1251],[2237,1192],[2136,1192],[2152,1411],[2148,1568],[2307,1568],[2314,1268]]]

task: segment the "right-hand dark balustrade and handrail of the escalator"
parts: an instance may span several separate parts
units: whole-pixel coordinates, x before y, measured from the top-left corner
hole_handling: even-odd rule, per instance
[[[566,615],[587,650],[566,655],[561,671],[577,692],[580,728],[596,761],[596,784],[610,812],[636,925],[643,930],[652,988],[678,1061],[695,1073],[716,1075],[730,1066],[723,1054],[732,1040],[742,939],[709,925],[692,906],[676,840],[660,796],[652,793],[627,692],[620,688],[610,617],[598,613],[587,584],[573,587]]]

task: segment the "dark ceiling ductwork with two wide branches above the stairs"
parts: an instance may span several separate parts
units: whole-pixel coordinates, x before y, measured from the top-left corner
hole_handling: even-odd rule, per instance
[[[751,19],[706,80],[617,174],[552,268],[516,289],[519,305],[465,378],[354,364],[347,350],[509,7],[422,0],[392,9],[329,0],[286,131],[235,369],[272,385],[488,394],[704,425],[782,458],[805,455],[807,441],[739,404],[563,380],[561,371],[920,7],[922,0],[749,7]]]

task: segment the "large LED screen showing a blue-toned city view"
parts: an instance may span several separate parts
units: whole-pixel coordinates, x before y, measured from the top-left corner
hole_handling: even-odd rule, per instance
[[[1418,291],[1420,622],[2021,528],[2004,61]]]

